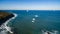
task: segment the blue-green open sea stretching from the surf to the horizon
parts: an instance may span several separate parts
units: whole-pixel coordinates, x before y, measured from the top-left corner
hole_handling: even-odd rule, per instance
[[[14,34],[42,34],[44,31],[58,31],[60,34],[60,10],[2,10],[18,16],[8,25]]]

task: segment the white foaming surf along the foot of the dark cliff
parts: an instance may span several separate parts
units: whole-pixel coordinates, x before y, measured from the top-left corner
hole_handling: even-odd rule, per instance
[[[15,19],[17,17],[17,14],[14,14],[14,17],[10,18],[9,20],[7,20],[4,24],[1,25],[0,29],[2,31],[0,31],[0,34],[7,34],[7,32],[13,34],[13,32],[11,31],[11,27],[7,26],[7,24],[12,20]]]

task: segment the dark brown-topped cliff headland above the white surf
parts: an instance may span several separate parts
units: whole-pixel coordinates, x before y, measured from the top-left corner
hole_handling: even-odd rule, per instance
[[[0,12],[0,26],[10,18],[14,17],[13,14],[8,13],[8,12]]]

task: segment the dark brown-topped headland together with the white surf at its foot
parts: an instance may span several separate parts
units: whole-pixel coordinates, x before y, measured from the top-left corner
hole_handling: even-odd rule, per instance
[[[8,22],[10,22],[12,19],[15,19],[17,15],[11,14],[8,12],[0,12],[0,33],[1,34],[8,34],[7,32],[13,34],[11,31],[11,27],[7,26]]]

